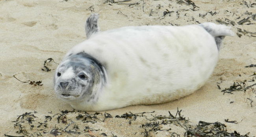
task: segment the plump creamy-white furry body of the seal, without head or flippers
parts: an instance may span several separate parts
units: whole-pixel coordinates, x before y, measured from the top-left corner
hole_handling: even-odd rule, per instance
[[[108,85],[100,101],[113,106],[191,94],[204,85],[218,58],[214,38],[197,25],[124,27],[101,32],[72,52],[81,49],[105,65]]]

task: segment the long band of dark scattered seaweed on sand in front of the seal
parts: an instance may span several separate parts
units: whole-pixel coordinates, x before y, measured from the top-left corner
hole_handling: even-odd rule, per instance
[[[61,110],[58,114],[49,113],[45,116],[35,116],[37,112],[26,112],[22,115],[18,115],[18,118],[14,124],[16,133],[19,136],[9,135],[7,137],[24,137],[24,136],[112,136],[117,137],[116,132],[119,129],[101,129],[99,124],[103,124],[108,121],[120,122],[117,126],[127,124],[137,127],[134,134],[137,137],[154,137],[156,134],[169,135],[171,137],[180,137],[182,134],[187,137],[248,137],[249,133],[240,135],[238,132],[227,132],[226,125],[220,122],[207,123],[199,121],[198,125],[191,125],[189,119],[181,114],[182,110],[177,108],[176,115],[156,115],[153,112],[132,113],[126,112],[122,115],[116,115],[112,117],[108,113],[87,113],[85,111],[76,110]],[[51,123],[49,123],[51,121]],[[122,122],[121,122],[122,121]],[[136,121],[136,123],[134,122]],[[226,122],[236,123],[236,121]],[[125,124],[126,123],[126,124]],[[135,123],[135,125],[133,125]],[[113,125],[114,126],[114,125]],[[173,130],[173,126],[182,129],[184,132],[177,132]],[[105,133],[104,133],[104,132]],[[136,132],[137,131],[137,132]]]

